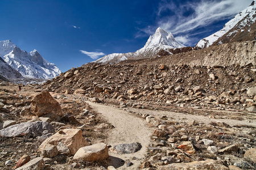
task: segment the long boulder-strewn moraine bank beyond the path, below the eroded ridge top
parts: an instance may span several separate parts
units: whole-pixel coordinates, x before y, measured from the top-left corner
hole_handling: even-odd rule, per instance
[[[174,105],[255,112],[254,67],[142,63],[88,64],[61,74],[43,87],[63,94],[96,97],[93,100],[97,102],[134,107]]]

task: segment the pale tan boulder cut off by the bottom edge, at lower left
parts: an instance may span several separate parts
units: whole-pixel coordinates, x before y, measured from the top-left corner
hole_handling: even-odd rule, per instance
[[[43,170],[44,169],[44,160],[43,158],[35,158],[30,162],[24,164],[22,167],[17,168],[16,170]]]

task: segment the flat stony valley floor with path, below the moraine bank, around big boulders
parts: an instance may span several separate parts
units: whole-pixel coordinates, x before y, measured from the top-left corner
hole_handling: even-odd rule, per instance
[[[18,91],[16,84],[0,86],[0,100],[5,104],[0,109],[3,121],[19,122],[39,120],[35,116],[20,116],[20,111],[39,94],[39,86],[25,86]],[[245,152],[256,148],[256,114],[247,111],[218,111],[186,107],[160,107],[138,109],[108,103],[93,103],[85,95],[51,93],[60,103],[63,112],[73,115],[77,124],[65,122],[59,128],[79,128],[90,144],[104,142],[109,147],[109,158],[104,162],[79,162],[79,169],[104,169],[112,165],[117,169],[158,169],[188,162],[208,161],[226,169],[236,165],[241,169],[254,169],[255,157],[247,158]],[[62,96],[62,97],[60,97]],[[90,114],[80,117],[83,109]],[[94,117],[93,117],[94,116]],[[0,128],[2,123],[0,122]],[[81,128],[81,125],[83,128]],[[104,125],[104,128],[102,128]],[[110,125],[110,126],[105,126]],[[114,126],[114,128],[110,128]],[[24,154],[31,158],[40,156],[36,138],[0,138],[0,169],[11,169]],[[132,154],[117,154],[113,146],[138,142],[141,150]],[[181,145],[192,143],[192,152]],[[232,149],[228,148],[232,147]],[[210,150],[210,148],[216,148]],[[190,150],[189,150],[190,151]],[[255,156],[255,155],[253,155]],[[72,169],[70,158],[52,158],[49,169]],[[5,165],[7,161],[10,163]],[[127,164],[131,164],[127,167]],[[166,167],[167,169],[171,167]]]

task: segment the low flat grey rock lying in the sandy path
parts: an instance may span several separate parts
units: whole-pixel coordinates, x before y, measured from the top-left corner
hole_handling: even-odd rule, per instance
[[[117,151],[118,154],[131,154],[141,150],[142,146],[141,143],[134,142],[134,143],[125,143],[114,146],[114,149]]]

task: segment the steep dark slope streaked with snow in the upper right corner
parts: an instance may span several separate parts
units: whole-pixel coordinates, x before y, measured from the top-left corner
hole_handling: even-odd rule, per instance
[[[208,48],[210,45],[219,45],[235,41],[248,41],[255,39],[256,20],[255,0],[249,7],[234,16],[232,20],[225,24],[224,28],[212,35],[197,42],[196,46]]]

